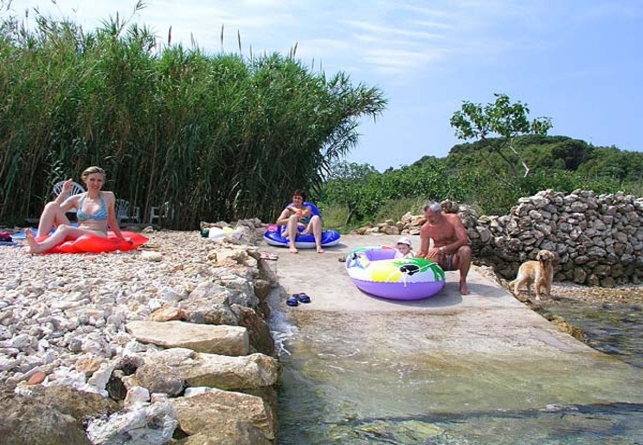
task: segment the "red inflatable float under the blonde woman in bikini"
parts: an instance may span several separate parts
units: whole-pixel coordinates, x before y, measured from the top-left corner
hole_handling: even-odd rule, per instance
[[[121,232],[123,237],[129,238],[132,242],[123,241],[114,235],[114,232],[107,232],[107,237],[100,235],[82,235],[77,239],[65,241],[58,246],[42,253],[101,253],[114,250],[134,250],[141,244],[147,242],[147,238],[140,233]],[[41,242],[48,237],[38,237],[36,241]]]

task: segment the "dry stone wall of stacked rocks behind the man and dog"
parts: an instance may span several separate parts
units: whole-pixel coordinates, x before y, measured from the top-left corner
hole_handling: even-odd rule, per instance
[[[475,262],[493,266],[504,278],[515,278],[523,261],[546,249],[556,255],[558,281],[614,287],[643,279],[641,197],[543,190],[521,198],[503,216],[478,217],[471,206],[451,201],[442,206],[445,212],[460,215]],[[417,235],[423,223],[421,215],[407,213],[396,224],[379,224],[363,232]]]

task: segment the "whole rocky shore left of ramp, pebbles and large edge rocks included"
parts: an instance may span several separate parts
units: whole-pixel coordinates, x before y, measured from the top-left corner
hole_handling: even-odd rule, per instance
[[[216,241],[151,231],[126,253],[0,248],[3,443],[273,443],[262,232],[255,219]]]

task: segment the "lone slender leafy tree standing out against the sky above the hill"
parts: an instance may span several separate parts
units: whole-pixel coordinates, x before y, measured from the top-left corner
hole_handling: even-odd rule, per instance
[[[451,116],[451,127],[455,128],[455,135],[458,139],[478,139],[485,142],[485,147],[497,153],[511,168],[514,177],[519,177],[518,168],[505,149],[518,158],[525,169],[524,177],[527,177],[530,168],[527,165],[520,151],[514,146],[516,136],[525,134],[538,134],[545,136],[552,127],[552,121],[548,117],[539,117],[529,122],[529,108],[521,102],[511,103],[509,96],[494,94],[496,102],[482,106],[473,102],[463,101],[460,111]],[[497,135],[493,142],[489,136]]]

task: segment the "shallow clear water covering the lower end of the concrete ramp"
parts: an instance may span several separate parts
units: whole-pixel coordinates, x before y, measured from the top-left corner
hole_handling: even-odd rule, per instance
[[[641,370],[610,356],[449,356],[426,352],[430,333],[332,313],[271,325],[280,444],[643,444]]]

